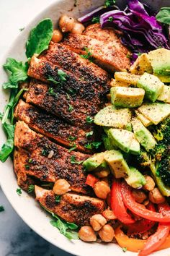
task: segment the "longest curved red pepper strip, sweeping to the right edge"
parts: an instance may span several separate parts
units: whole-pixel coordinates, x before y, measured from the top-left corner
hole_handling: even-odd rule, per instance
[[[151,221],[158,221],[161,223],[170,222],[170,213],[166,214],[166,216],[164,216],[164,214],[162,213],[154,213],[151,210],[143,208],[143,205],[140,205],[140,203],[135,202],[130,190],[130,186],[128,186],[128,184],[126,184],[125,182],[122,182],[121,190],[122,200],[125,203],[125,206],[136,215]]]

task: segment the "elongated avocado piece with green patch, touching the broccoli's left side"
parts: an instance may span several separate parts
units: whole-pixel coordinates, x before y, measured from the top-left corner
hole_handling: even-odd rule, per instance
[[[151,150],[156,145],[156,140],[149,130],[144,127],[143,123],[137,118],[133,118],[133,132],[135,134],[135,138],[138,142],[146,149],[146,151]]]

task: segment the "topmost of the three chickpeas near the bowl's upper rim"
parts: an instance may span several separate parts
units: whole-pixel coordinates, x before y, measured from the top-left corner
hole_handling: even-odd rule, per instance
[[[59,20],[59,26],[63,33],[71,32],[73,26],[75,25],[76,20],[71,17],[68,17],[66,14],[63,14]]]

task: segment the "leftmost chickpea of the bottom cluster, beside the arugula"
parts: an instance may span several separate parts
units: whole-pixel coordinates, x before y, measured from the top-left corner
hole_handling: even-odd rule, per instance
[[[94,242],[97,240],[97,236],[91,226],[81,226],[79,238],[84,242]]]

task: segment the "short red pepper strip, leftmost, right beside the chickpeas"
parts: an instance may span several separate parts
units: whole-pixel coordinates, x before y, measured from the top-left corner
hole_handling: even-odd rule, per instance
[[[135,220],[127,213],[125,205],[122,201],[121,183],[117,179],[112,183],[111,189],[111,208],[115,216],[122,223],[130,224],[134,223]]]

